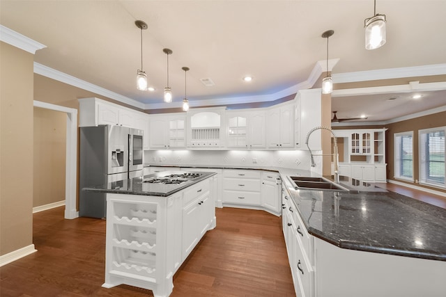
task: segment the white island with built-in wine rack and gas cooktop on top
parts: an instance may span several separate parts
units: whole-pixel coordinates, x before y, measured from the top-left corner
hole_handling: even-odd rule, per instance
[[[159,172],[84,191],[107,193],[105,283],[166,297],[173,276],[215,227],[215,172]]]

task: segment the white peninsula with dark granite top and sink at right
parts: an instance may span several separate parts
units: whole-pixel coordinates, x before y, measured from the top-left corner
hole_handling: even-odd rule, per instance
[[[283,231],[301,296],[444,296],[446,209],[365,182],[283,179]],[[402,257],[401,257],[402,256]]]

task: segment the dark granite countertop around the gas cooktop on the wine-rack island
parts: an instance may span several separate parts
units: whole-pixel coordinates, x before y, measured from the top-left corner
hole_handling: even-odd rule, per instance
[[[182,184],[148,184],[144,183],[145,179],[151,179],[157,177],[160,173],[154,173],[151,175],[145,175],[144,177],[134,177],[132,179],[124,179],[118,182],[110,182],[108,184],[101,184],[97,186],[85,187],[83,191],[96,191],[102,193],[118,193],[118,194],[131,194],[131,195],[147,195],[147,196],[160,196],[167,197],[178,191],[197,184],[203,179],[207,179],[215,175],[215,172],[199,172],[199,171],[189,171],[201,173],[200,177],[194,178],[193,180],[183,182]],[[162,172],[165,173],[165,172]],[[184,172],[174,172],[167,171],[167,173],[184,173]]]

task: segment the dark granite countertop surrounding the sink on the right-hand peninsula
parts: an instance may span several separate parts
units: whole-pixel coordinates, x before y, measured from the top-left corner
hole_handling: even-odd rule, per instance
[[[339,248],[446,261],[446,209],[341,179],[351,191],[289,191],[310,234]]]

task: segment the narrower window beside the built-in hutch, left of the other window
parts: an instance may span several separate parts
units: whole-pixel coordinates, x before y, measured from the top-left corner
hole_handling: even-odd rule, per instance
[[[413,131],[394,134],[394,176],[413,181]]]

